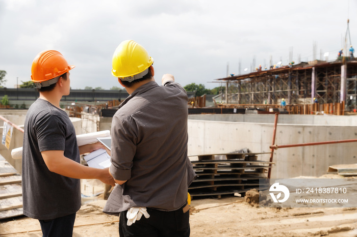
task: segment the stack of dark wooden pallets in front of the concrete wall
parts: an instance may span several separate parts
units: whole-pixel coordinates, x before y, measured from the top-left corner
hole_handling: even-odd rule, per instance
[[[267,169],[272,162],[258,160],[267,153],[213,154],[198,156],[191,161],[197,174],[189,187],[192,197],[244,193],[252,188],[259,190],[260,179],[267,179]],[[219,159],[218,159],[219,158]]]

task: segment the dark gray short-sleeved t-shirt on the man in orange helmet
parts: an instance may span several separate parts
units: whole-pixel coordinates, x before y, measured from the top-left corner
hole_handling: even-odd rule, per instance
[[[23,214],[50,220],[77,212],[81,208],[80,180],[49,171],[41,156],[43,151],[64,151],[65,157],[80,162],[75,130],[67,113],[37,99],[24,124]]]

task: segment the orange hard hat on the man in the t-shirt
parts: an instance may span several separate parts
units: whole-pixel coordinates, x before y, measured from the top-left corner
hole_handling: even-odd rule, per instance
[[[32,62],[31,80],[35,82],[37,87],[41,88],[41,82],[60,76],[74,67],[74,65],[68,65],[60,52],[56,50],[45,50],[37,54]],[[42,86],[49,85],[48,83],[46,85],[44,84],[46,83],[43,83]]]

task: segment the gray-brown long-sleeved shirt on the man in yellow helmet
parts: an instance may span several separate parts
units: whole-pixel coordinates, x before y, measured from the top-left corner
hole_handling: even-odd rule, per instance
[[[118,215],[132,206],[164,211],[181,208],[195,177],[187,156],[188,98],[169,82],[148,82],[135,90],[113,116],[110,171],[116,185],[104,212]]]

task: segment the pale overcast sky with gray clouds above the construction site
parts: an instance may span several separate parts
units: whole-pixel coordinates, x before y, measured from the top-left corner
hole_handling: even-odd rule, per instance
[[[31,80],[43,50],[60,51],[71,70],[71,88],[121,87],[111,75],[112,56],[132,39],[154,58],[155,79],[165,73],[183,86],[214,88],[229,73],[335,60],[347,32],[357,51],[357,0],[0,0],[0,70],[6,87]],[[350,44],[347,35],[347,44]],[[349,45],[348,45],[349,46]],[[357,54],[357,52],[355,52]],[[253,65],[253,62],[256,62]],[[244,69],[247,68],[247,71]]]

